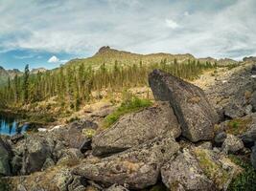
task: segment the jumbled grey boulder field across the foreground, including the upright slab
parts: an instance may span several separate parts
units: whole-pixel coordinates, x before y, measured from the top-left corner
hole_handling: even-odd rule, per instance
[[[249,68],[241,74],[246,73]],[[233,85],[235,79],[230,80]],[[243,115],[233,115],[231,103],[212,100],[221,97],[218,90],[225,96],[220,84],[209,95],[154,70],[149,75],[153,106],[120,117],[105,130],[84,118],[29,136],[0,138],[0,186],[15,191],[127,191],[161,184],[175,191],[227,190],[244,172],[229,154],[249,153],[256,167],[256,115],[245,112],[248,105],[254,108],[256,94],[248,80],[244,84],[251,97],[238,104]],[[237,94],[228,87],[226,91]],[[232,98],[242,99],[238,95]],[[243,127],[237,127],[235,116]]]

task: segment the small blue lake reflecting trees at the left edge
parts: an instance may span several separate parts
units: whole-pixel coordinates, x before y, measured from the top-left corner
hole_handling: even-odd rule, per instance
[[[14,136],[26,132],[28,125],[19,125],[20,119],[12,115],[0,113],[0,135]]]

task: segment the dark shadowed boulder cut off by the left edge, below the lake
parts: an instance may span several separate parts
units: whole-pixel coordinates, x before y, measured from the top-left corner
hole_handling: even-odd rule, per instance
[[[2,138],[0,138],[0,177],[11,175],[10,161],[10,146]]]

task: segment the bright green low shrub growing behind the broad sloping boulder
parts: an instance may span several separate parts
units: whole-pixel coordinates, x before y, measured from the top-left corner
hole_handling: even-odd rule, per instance
[[[152,102],[149,99],[141,99],[132,96],[128,100],[122,102],[121,106],[115,112],[105,117],[104,127],[109,127],[125,114],[139,111],[142,108],[150,107],[151,105]]]

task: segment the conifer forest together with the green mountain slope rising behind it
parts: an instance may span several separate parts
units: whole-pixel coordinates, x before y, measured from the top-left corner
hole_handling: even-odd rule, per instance
[[[210,60],[210,61],[207,61]],[[213,62],[214,61],[214,62]],[[103,47],[94,56],[74,59],[52,71],[37,74],[26,67],[22,76],[15,75],[0,88],[2,107],[36,107],[39,101],[54,97],[61,111],[79,110],[91,101],[92,92],[107,94],[132,87],[148,86],[148,74],[161,69],[183,79],[197,78],[205,70],[218,65],[216,60],[196,59],[191,54],[136,54]]]

